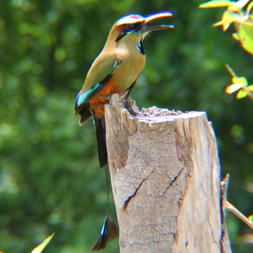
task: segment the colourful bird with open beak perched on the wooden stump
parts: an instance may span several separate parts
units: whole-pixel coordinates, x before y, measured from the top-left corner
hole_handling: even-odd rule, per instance
[[[75,97],[75,112],[80,115],[80,124],[91,116],[94,118],[101,167],[108,166],[104,105],[114,93],[128,96],[145,66],[145,37],[153,31],[174,27],[151,23],[172,15],[171,11],[148,16],[129,14],[117,20]]]

